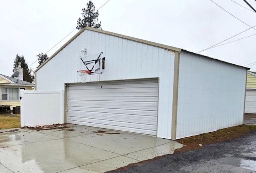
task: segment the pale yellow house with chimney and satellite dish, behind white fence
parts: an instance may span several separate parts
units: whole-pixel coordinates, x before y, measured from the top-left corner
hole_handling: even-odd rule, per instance
[[[9,77],[0,74],[0,105],[20,106],[20,90],[31,90],[34,84],[23,81],[23,69],[19,66],[14,70],[19,72],[18,77]]]

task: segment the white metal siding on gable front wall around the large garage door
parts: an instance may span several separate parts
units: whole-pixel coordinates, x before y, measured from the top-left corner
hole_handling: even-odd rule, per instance
[[[170,139],[174,54],[162,48],[85,30],[52,60],[36,72],[37,90],[60,91],[65,83],[81,82],[77,70],[84,65],[81,49],[87,54],[103,52],[103,74],[91,75],[88,82],[159,78],[157,136]]]

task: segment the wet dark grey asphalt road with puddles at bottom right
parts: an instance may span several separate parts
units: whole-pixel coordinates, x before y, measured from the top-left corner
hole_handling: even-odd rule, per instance
[[[256,173],[256,132],[108,173]]]

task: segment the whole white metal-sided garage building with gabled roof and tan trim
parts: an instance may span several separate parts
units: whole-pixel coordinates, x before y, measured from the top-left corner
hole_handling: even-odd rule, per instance
[[[81,51],[82,50],[82,51]],[[81,57],[102,52],[81,83]],[[178,139],[240,125],[246,68],[180,48],[84,28],[38,67],[36,90],[65,93],[67,123]]]

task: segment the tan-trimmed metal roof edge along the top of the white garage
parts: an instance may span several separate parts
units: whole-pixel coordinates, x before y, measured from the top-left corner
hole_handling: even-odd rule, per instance
[[[68,44],[70,44],[76,37],[78,37],[80,34],[82,34],[82,32],[84,32],[85,30],[90,30],[90,31],[94,31],[94,32],[100,32],[100,33],[111,35],[111,36],[117,36],[117,37],[124,38],[124,39],[127,39],[127,40],[132,40],[132,41],[136,41],[136,42],[140,42],[140,43],[156,46],[156,47],[159,47],[159,48],[164,48],[164,49],[172,50],[172,51],[175,51],[175,52],[181,52],[183,50],[181,48],[176,48],[176,47],[172,47],[172,46],[168,46],[168,45],[164,45],[164,44],[150,42],[150,41],[147,41],[147,40],[142,40],[142,39],[139,39],[139,38],[125,36],[125,35],[117,34],[117,33],[114,33],[114,32],[104,31],[104,30],[90,28],[90,27],[84,27],[76,35],[74,35],[70,40],[68,40],[68,42],[66,42],[52,56],[50,56],[50,58],[48,58],[43,64],[41,64],[38,68],[36,68],[36,70],[34,72],[37,72],[40,68],[42,68],[42,66],[44,66],[48,61],[50,61],[52,58],[54,58],[54,56],[56,56],[62,49],[64,49],[66,46],[68,46]],[[184,51],[186,51],[186,50],[184,50]],[[187,51],[187,52],[189,52],[189,51]],[[196,54],[194,52],[191,52],[191,53]],[[204,55],[202,55],[202,56],[204,56]],[[205,58],[210,58],[208,56],[204,56],[204,57]],[[211,58],[211,59],[218,60],[218,59],[215,59],[215,58]],[[225,61],[222,61],[222,60],[218,60],[218,61],[225,62]],[[229,62],[225,62],[225,63],[232,64],[232,63],[229,63]],[[239,65],[236,65],[236,64],[233,64],[233,65],[234,66],[239,66]],[[239,67],[246,68],[244,66],[239,66]],[[246,69],[250,70],[250,68],[246,68]]]

